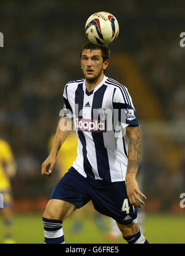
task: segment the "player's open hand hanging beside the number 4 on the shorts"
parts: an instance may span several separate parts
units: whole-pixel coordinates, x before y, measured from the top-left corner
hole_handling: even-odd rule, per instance
[[[139,190],[138,182],[135,178],[126,177],[126,192],[131,205],[139,208],[144,206],[144,202],[141,200],[141,198],[139,198],[139,195],[141,195],[141,197],[144,199],[146,199],[146,196]]]

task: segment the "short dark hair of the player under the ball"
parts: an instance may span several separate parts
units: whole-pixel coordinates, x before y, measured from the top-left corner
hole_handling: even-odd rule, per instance
[[[81,54],[82,54],[84,49],[100,49],[101,53],[102,53],[103,62],[106,59],[110,58],[110,49],[107,46],[105,46],[105,45],[95,45],[94,43],[91,43],[91,41],[88,41],[88,43],[85,43],[83,45],[83,47],[81,48],[80,59],[81,59]]]

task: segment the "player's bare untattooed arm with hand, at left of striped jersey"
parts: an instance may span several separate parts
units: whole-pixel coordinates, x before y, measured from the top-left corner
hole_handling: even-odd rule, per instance
[[[67,122],[70,122],[69,126],[67,126]],[[73,127],[73,118],[68,120],[66,116],[62,116],[59,120],[57,131],[55,133],[54,144],[49,153],[49,156],[42,164],[41,173],[45,177],[51,176],[52,169],[54,168],[55,163],[57,162],[57,153],[59,152],[60,148],[62,147],[62,144],[65,142],[65,139],[67,139],[67,136],[70,132],[70,129],[61,129],[61,126]]]

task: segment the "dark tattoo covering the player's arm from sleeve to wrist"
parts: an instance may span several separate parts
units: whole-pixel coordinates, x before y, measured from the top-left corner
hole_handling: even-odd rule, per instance
[[[141,134],[138,126],[126,127],[126,135],[128,137],[128,166],[126,173],[138,172],[139,162],[141,158]]]

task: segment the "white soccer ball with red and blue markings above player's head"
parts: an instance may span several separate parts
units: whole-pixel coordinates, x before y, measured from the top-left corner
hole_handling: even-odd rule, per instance
[[[85,32],[92,43],[109,45],[118,37],[118,21],[109,12],[95,12],[86,21]]]

